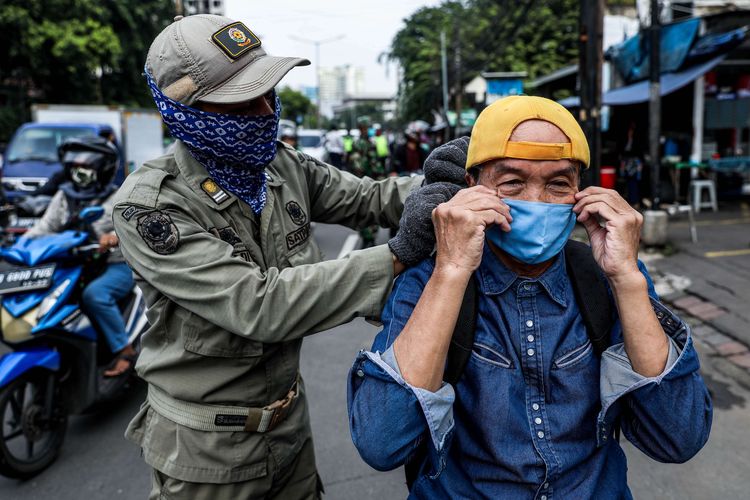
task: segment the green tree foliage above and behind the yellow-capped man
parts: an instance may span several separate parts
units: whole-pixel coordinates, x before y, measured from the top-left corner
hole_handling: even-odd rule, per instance
[[[467,0],[418,10],[386,54],[403,70],[400,119],[430,120],[432,111],[442,108],[441,31],[454,99],[484,71],[526,71],[534,79],[574,62],[579,5],[576,0]]]

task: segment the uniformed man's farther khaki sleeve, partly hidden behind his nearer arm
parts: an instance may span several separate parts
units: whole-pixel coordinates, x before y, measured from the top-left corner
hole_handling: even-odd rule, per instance
[[[416,176],[375,181],[356,177],[302,153],[300,160],[307,176],[312,219],[352,229],[371,224],[397,226],[404,200],[423,180],[422,176]]]

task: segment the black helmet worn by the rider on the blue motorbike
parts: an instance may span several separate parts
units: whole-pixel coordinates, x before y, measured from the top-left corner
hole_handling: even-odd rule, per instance
[[[104,192],[115,176],[118,153],[108,140],[97,136],[75,137],[57,149],[65,176],[80,194]]]

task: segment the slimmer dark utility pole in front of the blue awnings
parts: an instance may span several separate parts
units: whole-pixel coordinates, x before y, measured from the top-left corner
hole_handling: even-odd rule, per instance
[[[651,54],[649,57],[649,156],[651,157],[651,202],[652,209],[659,207],[659,175],[661,158],[659,157],[659,136],[661,135],[661,26],[659,23],[659,0],[651,0],[651,26],[649,40]]]

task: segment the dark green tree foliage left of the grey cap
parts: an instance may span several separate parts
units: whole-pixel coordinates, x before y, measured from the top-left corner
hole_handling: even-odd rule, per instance
[[[143,64],[173,15],[171,0],[3,0],[0,104],[151,106]]]

